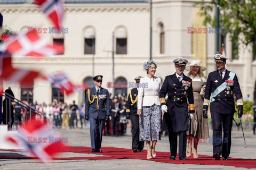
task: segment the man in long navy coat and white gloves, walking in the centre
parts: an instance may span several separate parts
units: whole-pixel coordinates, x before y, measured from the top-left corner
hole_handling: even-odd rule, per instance
[[[192,80],[183,74],[188,63],[185,58],[175,58],[173,63],[176,72],[165,77],[159,92],[161,108],[164,113],[162,130],[169,131],[170,160],[175,160],[177,155],[178,134],[179,159],[186,160],[188,119],[193,118],[195,113]],[[166,94],[168,95],[167,101],[165,101]]]

